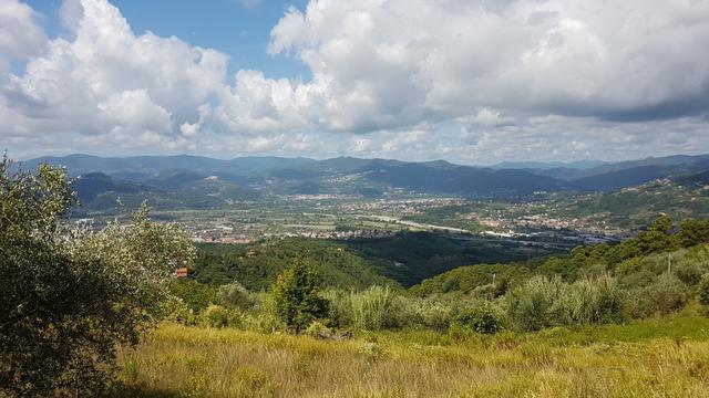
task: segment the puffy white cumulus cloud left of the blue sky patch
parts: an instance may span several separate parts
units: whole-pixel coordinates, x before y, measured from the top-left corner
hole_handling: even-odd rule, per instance
[[[10,74],[2,135],[133,134],[140,144],[195,134],[178,126],[199,122],[199,106],[223,84],[224,54],[177,38],[136,35],[106,1],[69,0],[62,19],[73,38],[48,42],[24,74]]]

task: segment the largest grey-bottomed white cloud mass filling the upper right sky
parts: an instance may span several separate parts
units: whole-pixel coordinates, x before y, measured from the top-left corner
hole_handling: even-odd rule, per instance
[[[269,51],[297,56],[349,129],[481,107],[606,119],[709,105],[709,3],[314,0]]]

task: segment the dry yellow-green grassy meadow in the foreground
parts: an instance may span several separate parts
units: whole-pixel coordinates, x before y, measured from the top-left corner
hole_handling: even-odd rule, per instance
[[[121,378],[146,397],[709,397],[709,320],[342,342],[165,324]]]

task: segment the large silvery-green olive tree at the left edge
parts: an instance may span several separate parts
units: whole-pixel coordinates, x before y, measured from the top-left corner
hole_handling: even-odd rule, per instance
[[[0,163],[0,395],[95,396],[115,349],[136,344],[168,297],[175,266],[194,259],[186,234],[148,221],[92,232],[66,227],[65,172]]]

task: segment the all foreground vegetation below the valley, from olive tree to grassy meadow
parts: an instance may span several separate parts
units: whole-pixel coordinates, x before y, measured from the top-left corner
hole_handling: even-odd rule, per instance
[[[424,277],[480,253],[289,239],[193,264],[145,207],[91,231],[62,222],[74,199],[62,170],[0,163],[3,397],[709,395],[709,221],[404,290],[389,265]]]

